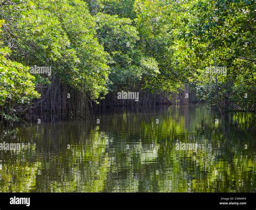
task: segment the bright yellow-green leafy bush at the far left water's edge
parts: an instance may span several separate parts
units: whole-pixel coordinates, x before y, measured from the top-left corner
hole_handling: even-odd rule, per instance
[[[1,21],[0,26],[3,23]],[[0,48],[0,107],[1,115],[14,121],[17,120],[16,113],[24,110],[23,105],[38,98],[39,94],[35,91],[35,77],[30,74],[29,68],[8,59],[10,53],[8,47]]]

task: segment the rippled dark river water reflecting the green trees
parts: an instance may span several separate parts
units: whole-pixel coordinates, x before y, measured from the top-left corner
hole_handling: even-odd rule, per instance
[[[1,131],[0,192],[255,192],[255,137],[252,114],[204,105],[22,124]]]

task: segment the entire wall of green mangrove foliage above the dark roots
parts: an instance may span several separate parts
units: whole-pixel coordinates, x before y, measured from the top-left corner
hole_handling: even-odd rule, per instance
[[[53,79],[90,101],[190,84],[220,110],[254,111],[254,9],[249,0],[1,1],[2,116],[14,118]],[[34,65],[51,76],[32,76]]]

